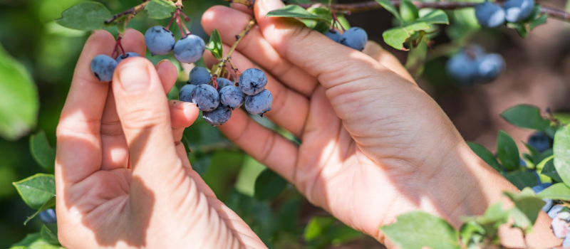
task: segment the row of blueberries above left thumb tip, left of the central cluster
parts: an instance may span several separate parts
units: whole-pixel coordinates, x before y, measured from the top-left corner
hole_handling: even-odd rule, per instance
[[[175,41],[174,34],[162,26],[149,28],[145,32],[145,43],[152,55],[165,55],[174,51],[175,58],[181,63],[197,62],[206,50],[206,44],[199,36],[188,35]],[[118,63],[133,56],[140,55],[123,53],[116,60],[108,55],[97,55],[91,60],[91,72],[100,81],[110,81]]]

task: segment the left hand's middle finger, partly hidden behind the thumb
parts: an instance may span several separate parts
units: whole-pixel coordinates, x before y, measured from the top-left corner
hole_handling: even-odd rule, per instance
[[[142,33],[133,28],[128,28],[125,31],[121,39],[121,45],[125,49],[125,53],[134,52],[145,56],[145,36],[142,36]],[[112,88],[109,88],[101,119],[101,147],[101,170],[113,170],[128,166],[128,145],[123,134],[123,128],[120,126]]]

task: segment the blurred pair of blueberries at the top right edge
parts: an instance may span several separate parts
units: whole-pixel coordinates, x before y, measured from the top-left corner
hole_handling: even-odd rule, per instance
[[[475,6],[475,17],[484,28],[495,28],[504,24],[505,20],[518,23],[528,18],[534,8],[534,0],[507,0],[501,7],[485,1]]]

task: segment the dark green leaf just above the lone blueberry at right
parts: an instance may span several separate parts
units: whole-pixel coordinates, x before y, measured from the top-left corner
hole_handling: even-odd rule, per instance
[[[550,122],[540,115],[539,107],[533,105],[517,105],[501,113],[507,122],[522,128],[544,131]]]

